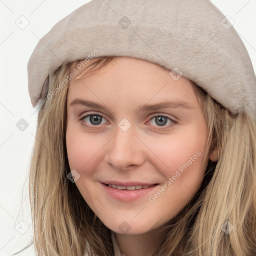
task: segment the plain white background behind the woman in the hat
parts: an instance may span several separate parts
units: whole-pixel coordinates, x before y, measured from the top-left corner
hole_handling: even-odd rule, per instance
[[[0,0],[0,255],[14,253],[32,238],[27,181],[38,111],[32,108],[27,90],[28,58],[38,38],[86,2],[88,0]],[[233,26],[249,52],[255,71],[256,1],[212,2],[234,20]],[[23,22],[29,22],[24,29],[16,25],[21,15],[28,20]],[[24,131],[16,127],[21,118],[28,123]],[[26,227],[29,229],[24,234],[17,231],[24,232]],[[35,255],[30,251],[27,249],[18,255]]]

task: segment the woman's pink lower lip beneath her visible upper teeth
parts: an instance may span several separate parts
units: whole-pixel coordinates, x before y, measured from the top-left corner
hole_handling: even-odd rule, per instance
[[[136,200],[149,192],[152,192],[152,190],[157,186],[157,185],[152,185],[147,188],[141,188],[141,189],[136,189],[136,190],[121,190],[117,188],[113,188],[110,186],[105,185],[104,183],[100,183],[107,194],[112,196],[113,198],[119,200],[119,201],[133,201]]]

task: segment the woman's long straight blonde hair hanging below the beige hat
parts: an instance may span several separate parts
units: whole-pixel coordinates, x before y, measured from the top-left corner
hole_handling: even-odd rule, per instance
[[[101,57],[80,76],[99,70],[113,57]],[[78,63],[78,60],[75,62]],[[64,63],[50,79],[51,93],[70,73]],[[194,84],[209,127],[208,161],[201,187],[162,228],[166,236],[155,256],[253,256],[256,253],[256,123],[246,113],[231,114]],[[67,174],[65,145],[68,83],[38,114],[29,173],[29,199],[37,255],[113,255],[110,229],[89,208]],[[234,228],[225,233],[229,221]],[[231,226],[231,225],[230,225]]]

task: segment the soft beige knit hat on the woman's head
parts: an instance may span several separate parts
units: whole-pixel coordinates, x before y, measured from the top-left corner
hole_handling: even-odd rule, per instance
[[[65,62],[130,56],[194,81],[230,112],[256,117],[256,79],[248,52],[208,0],[92,0],[57,22],[27,65],[33,106]],[[85,63],[86,64],[86,63]]]

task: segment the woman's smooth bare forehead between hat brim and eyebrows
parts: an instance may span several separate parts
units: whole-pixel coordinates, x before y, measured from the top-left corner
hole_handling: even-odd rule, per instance
[[[88,66],[99,58],[91,59]],[[71,68],[75,68],[77,62]],[[86,67],[88,67],[86,66]],[[83,72],[81,68],[80,72]],[[79,75],[79,73],[77,75]],[[183,99],[190,103],[197,100],[191,81],[181,76],[174,80],[169,70],[153,62],[132,57],[114,57],[96,72],[72,79],[69,84],[69,101],[77,96],[108,98],[123,103],[150,103],[159,100]]]

